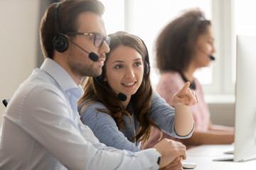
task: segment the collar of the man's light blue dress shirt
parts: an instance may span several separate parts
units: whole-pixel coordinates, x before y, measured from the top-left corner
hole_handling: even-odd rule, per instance
[[[81,97],[83,94],[82,86],[75,84],[75,81],[70,77],[68,72],[63,69],[57,62],[46,58],[41,65],[41,69],[47,72],[60,85],[63,91],[70,91],[71,89],[78,89],[74,95]]]

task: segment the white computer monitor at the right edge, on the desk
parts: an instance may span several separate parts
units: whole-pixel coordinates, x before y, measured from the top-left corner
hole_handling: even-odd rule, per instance
[[[237,36],[234,162],[256,158],[256,37]]]

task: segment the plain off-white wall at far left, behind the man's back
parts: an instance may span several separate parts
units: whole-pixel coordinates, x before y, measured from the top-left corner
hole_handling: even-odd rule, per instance
[[[40,0],[0,1],[0,100],[11,98],[36,67]],[[0,125],[4,113],[0,103]]]

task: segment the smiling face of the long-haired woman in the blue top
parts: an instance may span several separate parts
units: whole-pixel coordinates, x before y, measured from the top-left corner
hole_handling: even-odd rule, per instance
[[[106,62],[105,81],[116,93],[130,98],[142,84],[144,74],[142,55],[132,47],[119,45]]]

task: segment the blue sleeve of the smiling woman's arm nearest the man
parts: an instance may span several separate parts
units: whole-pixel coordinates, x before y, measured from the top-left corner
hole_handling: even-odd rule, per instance
[[[97,111],[97,108],[105,108],[101,103],[92,103],[81,113],[82,123],[89,126],[100,142],[108,147],[127,149],[132,152],[139,151],[139,147],[130,142],[117,128],[117,124],[111,115]]]

